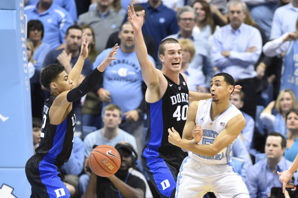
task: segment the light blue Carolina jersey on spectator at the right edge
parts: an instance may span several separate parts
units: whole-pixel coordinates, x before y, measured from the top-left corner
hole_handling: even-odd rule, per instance
[[[280,90],[292,89],[298,97],[298,40],[291,42],[287,54],[283,58]]]

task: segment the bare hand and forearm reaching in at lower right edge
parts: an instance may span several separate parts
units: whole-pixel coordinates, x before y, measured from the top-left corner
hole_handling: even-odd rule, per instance
[[[286,187],[288,188],[292,188],[294,187],[293,183],[289,183],[289,181],[291,180],[291,178],[293,177],[293,174],[295,173],[295,171],[298,169],[298,154],[295,157],[295,160],[293,161],[293,163],[291,164],[291,166],[283,171],[283,172],[278,172],[277,174],[279,175],[279,180],[282,182],[282,192],[284,193],[286,190]]]

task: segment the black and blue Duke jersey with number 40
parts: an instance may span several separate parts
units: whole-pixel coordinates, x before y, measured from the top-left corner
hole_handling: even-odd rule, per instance
[[[146,102],[147,146],[160,152],[168,152],[173,148],[178,149],[178,147],[169,143],[168,129],[174,127],[182,137],[188,109],[188,88],[183,76],[179,73],[179,85],[167,76],[165,78],[168,81],[168,87],[163,97],[155,103]]]

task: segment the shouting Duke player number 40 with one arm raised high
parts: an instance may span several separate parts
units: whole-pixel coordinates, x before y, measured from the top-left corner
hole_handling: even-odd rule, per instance
[[[145,94],[148,131],[142,164],[156,191],[164,197],[174,197],[176,180],[183,159],[187,156],[179,147],[168,142],[168,128],[174,126],[182,135],[186,122],[188,103],[211,98],[210,94],[188,91],[185,74],[179,73],[182,50],[177,40],[168,38],[159,45],[161,71],[148,59],[142,36],[141,16],[137,17],[133,6],[128,7],[129,22],[133,27],[135,51],[142,77],[147,85]]]

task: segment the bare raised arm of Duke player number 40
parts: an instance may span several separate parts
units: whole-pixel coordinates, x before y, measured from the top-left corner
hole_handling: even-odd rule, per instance
[[[142,34],[144,12],[143,10],[141,16],[138,17],[134,11],[133,5],[131,8],[128,6],[128,20],[133,27],[136,42],[135,50],[141,67],[142,77],[148,89],[150,89],[151,87],[155,88],[159,86],[159,77],[154,64],[148,58],[147,48]]]

